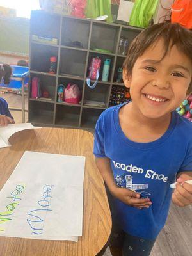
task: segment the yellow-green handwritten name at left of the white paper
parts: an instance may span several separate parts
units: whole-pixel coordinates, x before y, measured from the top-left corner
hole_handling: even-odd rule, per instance
[[[12,220],[12,218],[10,218],[10,216],[13,215],[15,207],[17,205],[19,205],[19,201],[18,200],[21,200],[19,195],[22,193],[24,188],[25,188],[24,186],[19,184],[19,185],[16,186],[16,189],[14,189],[12,191],[12,193],[10,193],[11,196],[7,196],[6,197],[6,198],[12,198],[13,202],[11,202],[10,204],[6,205],[6,211],[0,212],[0,224],[4,223],[5,221]],[[4,229],[0,228],[0,231],[4,231]]]

